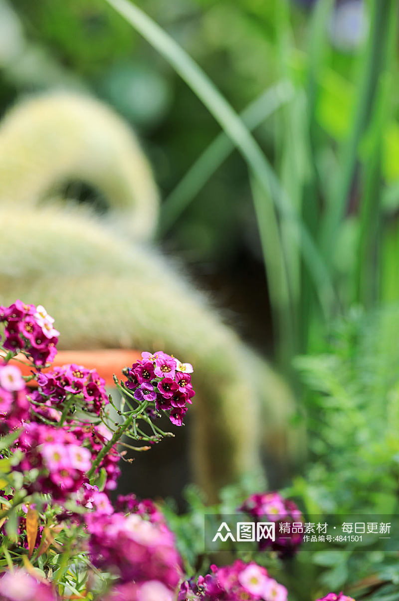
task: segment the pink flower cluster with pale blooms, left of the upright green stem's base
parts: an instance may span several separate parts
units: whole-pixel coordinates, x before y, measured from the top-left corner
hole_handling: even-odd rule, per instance
[[[90,450],[64,428],[26,424],[17,445],[25,453],[16,469],[38,470],[31,483],[26,484],[29,493],[49,493],[56,501],[64,501],[79,490],[91,468]]]

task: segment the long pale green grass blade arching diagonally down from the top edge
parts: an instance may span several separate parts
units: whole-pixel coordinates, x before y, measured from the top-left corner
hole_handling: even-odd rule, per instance
[[[309,232],[282,191],[273,169],[261,148],[249,133],[236,112],[215,85],[187,53],[147,14],[128,0],[105,0],[115,8],[143,37],[169,61],[187,85],[202,100],[210,113],[221,124],[236,144],[266,195],[270,195],[277,209],[294,227],[293,242],[300,246],[312,275],[315,290],[324,314],[329,314],[335,302],[334,288],[329,272],[321,259]],[[265,228],[265,224],[258,224]]]

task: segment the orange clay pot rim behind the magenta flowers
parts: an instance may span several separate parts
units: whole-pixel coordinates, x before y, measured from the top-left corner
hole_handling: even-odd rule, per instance
[[[23,376],[29,376],[32,367],[26,361],[25,355],[17,355],[16,359],[23,361],[14,361],[10,363],[17,365],[22,371]],[[59,350],[51,367],[43,369],[44,372],[52,370],[53,367],[61,367],[67,363],[76,363],[84,365],[88,369],[96,369],[99,376],[105,379],[107,386],[114,385],[112,376],[116,374],[121,377],[123,367],[130,367],[135,361],[141,359],[141,352],[138,350],[126,349],[100,349],[100,350]],[[36,386],[36,382],[29,382],[29,386]]]

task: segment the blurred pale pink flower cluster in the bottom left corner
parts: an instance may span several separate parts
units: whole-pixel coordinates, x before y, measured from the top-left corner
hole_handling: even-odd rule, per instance
[[[0,578],[0,601],[56,601],[51,586],[38,582],[28,572],[17,568]]]

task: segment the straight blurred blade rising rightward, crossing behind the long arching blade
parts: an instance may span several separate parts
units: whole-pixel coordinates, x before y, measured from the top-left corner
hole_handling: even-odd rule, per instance
[[[267,117],[293,97],[294,88],[290,81],[281,81],[264,91],[240,114],[240,118],[249,130],[258,127]],[[161,207],[159,233],[165,234],[192,202],[215,171],[233,152],[235,146],[224,132],[211,142],[196,159],[187,173],[181,178],[175,189],[165,198]]]

